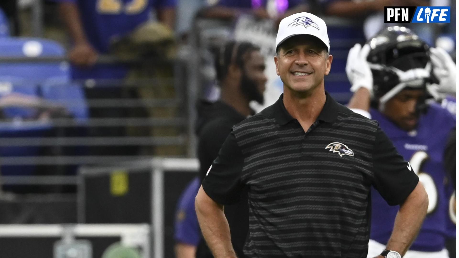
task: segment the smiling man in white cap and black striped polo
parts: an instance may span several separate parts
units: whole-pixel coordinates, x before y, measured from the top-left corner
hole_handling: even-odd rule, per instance
[[[411,165],[376,121],[334,101],[324,88],[332,56],[325,22],[297,13],[280,22],[274,57],[284,94],[235,125],[196,196],[216,258],[235,258],[223,206],[247,187],[249,257],[364,258],[370,186],[400,205],[388,251],[406,252],[428,200]]]

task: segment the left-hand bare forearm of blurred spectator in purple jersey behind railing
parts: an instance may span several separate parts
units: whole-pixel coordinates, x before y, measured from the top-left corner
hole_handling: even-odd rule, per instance
[[[84,34],[78,6],[75,3],[62,2],[59,4],[59,12],[74,43],[87,43],[88,39]]]

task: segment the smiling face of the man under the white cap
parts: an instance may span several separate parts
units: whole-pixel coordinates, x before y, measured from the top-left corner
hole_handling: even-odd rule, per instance
[[[324,87],[324,76],[330,73],[332,59],[325,44],[311,35],[285,40],[274,56],[276,72],[284,88],[298,93]]]

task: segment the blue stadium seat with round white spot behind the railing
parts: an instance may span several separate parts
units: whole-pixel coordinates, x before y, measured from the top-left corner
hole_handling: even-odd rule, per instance
[[[63,56],[65,50],[51,40],[0,39],[0,58]],[[71,82],[67,62],[0,62],[0,82],[8,78],[14,84],[14,92],[61,102],[75,118],[88,117],[84,91],[81,85]]]

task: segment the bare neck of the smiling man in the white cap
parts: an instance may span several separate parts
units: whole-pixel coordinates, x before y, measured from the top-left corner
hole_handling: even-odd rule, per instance
[[[307,130],[319,117],[325,105],[325,90],[323,87],[313,89],[309,94],[297,94],[284,87],[284,106],[287,112],[300,122]]]

